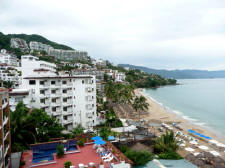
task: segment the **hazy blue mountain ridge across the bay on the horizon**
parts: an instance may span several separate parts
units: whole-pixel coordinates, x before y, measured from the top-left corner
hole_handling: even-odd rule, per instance
[[[152,69],[143,66],[135,66],[130,64],[119,64],[120,67],[129,67],[139,69],[147,73],[158,74],[165,78],[174,79],[197,79],[197,78],[225,78],[225,70],[207,71],[207,70],[164,70]]]

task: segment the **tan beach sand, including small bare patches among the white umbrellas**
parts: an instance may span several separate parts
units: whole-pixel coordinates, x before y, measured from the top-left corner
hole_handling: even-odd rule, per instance
[[[165,107],[161,106],[159,103],[153,101],[149,96],[146,96],[142,93],[142,89],[136,89],[135,90],[136,95],[142,95],[146,97],[147,102],[149,103],[148,113],[145,115],[141,115],[141,118],[148,122],[153,123],[167,123],[171,124],[173,122],[179,123],[179,125],[183,128],[183,133],[188,134],[188,129],[193,129],[201,134],[204,134],[206,136],[210,136],[212,139],[215,139],[223,144],[225,144],[225,138],[222,135],[217,135],[216,133],[213,133],[211,130],[204,128],[203,126],[196,125],[192,123],[191,121],[183,119],[181,116],[179,116],[176,113],[168,111]],[[201,142],[202,144],[209,146],[206,142]],[[225,153],[223,152],[222,155],[225,157]]]

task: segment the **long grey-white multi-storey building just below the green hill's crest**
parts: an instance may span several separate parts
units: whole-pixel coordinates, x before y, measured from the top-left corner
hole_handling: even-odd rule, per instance
[[[79,50],[49,49],[48,55],[63,61],[87,60],[88,53]]]

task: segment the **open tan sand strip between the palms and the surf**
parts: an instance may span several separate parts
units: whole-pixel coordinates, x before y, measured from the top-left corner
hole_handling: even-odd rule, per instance
[[[149,103],[148,115],[143,116],[145,120],[161,123],[177,122],[179,123],[180,126],[182,126],[183,131],[185,133],[188,133],[187,132],[188,129],[193,129],[201,134],[210,136],[212,139],[215,139],[221,143],[225,143],[225,136],[221,132],[215,132],[212,131],[213,128],[196,124],[194,123],[195,119],[188,120],[188,118],[187,119],[183,118],[181,115],[179,115],[179,112],[176,113],[172,109],[163,106],[160,102],[156,101],[151,96],[143,93],[143,89],[136,89],[135,93],[137,95],[144,96],[147,99],[147,102]]]

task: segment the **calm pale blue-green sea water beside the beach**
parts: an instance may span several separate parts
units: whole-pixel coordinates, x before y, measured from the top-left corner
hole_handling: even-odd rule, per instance
[[[225,135],[225,79],[182,79],[178,83],[144,89],[144,94],[182,118]]]

